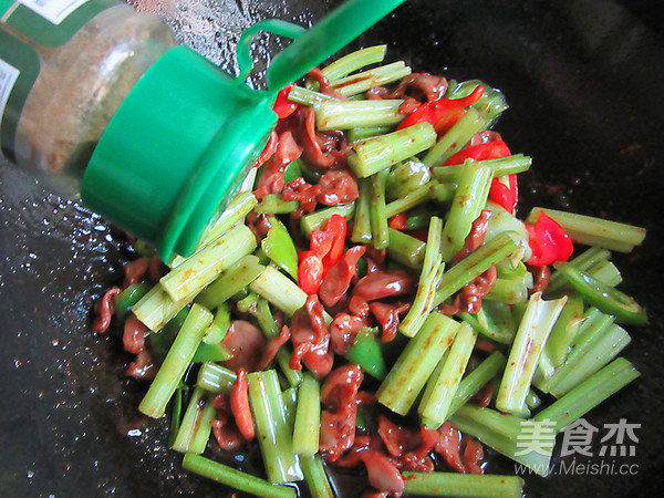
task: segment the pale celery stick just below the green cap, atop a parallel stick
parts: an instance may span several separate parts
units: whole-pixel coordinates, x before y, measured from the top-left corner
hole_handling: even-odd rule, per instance
[[[174,301],[195,295],[253,249],[256,237],[247,226],[238,225],[162,277],[159,283]]]

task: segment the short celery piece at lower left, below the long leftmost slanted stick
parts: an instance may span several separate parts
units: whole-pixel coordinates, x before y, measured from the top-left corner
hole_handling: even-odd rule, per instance
[[[194,388],[191,400],[185,412],[185,417],[177,432],[173,449],[179,453],[195,453],[200,455],[205,452],[210,438],[212,426],[210,422],[215,418],[217,411],[206,400],[206,392],[200,387]]]

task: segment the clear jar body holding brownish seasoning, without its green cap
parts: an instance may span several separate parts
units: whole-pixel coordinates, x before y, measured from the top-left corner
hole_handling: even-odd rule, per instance
[[[117,0],[0,0],[3,155],[75,195],[111,116],[173,46],[158,17]]]

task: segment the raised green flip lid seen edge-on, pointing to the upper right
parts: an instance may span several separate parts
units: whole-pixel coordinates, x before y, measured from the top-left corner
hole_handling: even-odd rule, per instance
[[[302,33],[268,69],[268,87],[278,92],[343,49],[405,0],[349,0]]]

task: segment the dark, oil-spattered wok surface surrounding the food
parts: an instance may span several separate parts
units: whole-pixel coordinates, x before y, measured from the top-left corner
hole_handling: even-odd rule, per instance
[[[135,0],[169,22],[180,41],[228,71],[250,23],[310,23],[333,1]],[[528,477],[528,496],[646,496],[664,489],[661,283],[664,177],[664,37],[652,0],[411,0],[355,46],[386,42],[390,60],[453,79],[481,79],[507,95],[499,121],[510,148],[533,157],[520,214],[541,206],[641,225],[649,236],[615,256],[623,289],[650,311],[631,328],[624,355],[642,377],[588,421],[641,424],[634,475]],[[268,60],[277,40],[261,40]],[[260,74],[257,75],[260,79]],[[90,310],[131,256],[98,216],[60,199],[6,162],[0,166],[0,496],[219,496],[185,475],[166,449],[163,421],[136,411],[144,387],[122,377],[114,334],[90,332]],[[134,429],[134,430],[131,430]],[[582,463],[600,461],[577,456]],[[568,458],[569,459],[569,458]],[[255,454],[236,458],[260,465]],[[513,471],[490,458],[489,471]],[[633,468],[633,467],[632,467]],[[351,486],[352,487],[352,486]],[[349,488],[342,488],[350,492]],[[230,491],[228,491],[229,494]]]

